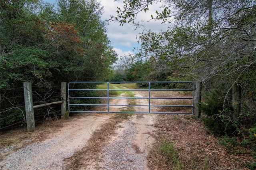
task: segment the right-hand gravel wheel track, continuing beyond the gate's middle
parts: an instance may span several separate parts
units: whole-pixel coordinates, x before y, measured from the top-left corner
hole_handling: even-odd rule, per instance
[[[144,97],[136,91],[136,97]],[[145,99],[136,99],[136,104],[147,105]],[[136,111],[147,112],[148,107],[134,107]],[[156,115],[137,113],[131,119],[119,123],[116,134],[104,147],[99,155],[102,162],[97,162],[104,170],[148,170],[146,157],[149,146],[154,142],[152,134],[155,133],[154,120]],[[94,170],[94,166],[88,167]]]

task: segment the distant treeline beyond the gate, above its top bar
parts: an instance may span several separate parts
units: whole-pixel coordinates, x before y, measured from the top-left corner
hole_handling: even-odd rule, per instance
[[[175,70],[168,64],[167,59],[156,61],[155,58],[132,61],[129,57],[123,57],[118,61],[112,81],[190,81],[191,79],[178,76]],[[175,78],[178,76],[177,78]]]

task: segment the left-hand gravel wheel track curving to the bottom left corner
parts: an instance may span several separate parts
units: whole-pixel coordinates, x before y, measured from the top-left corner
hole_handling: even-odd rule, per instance
[[[113,114],[84,113],[64,121],[60,131],[49,134],[45,141],[30,144],[19,150],[9,150],[1,161],[2,170],[62,170],[64,159],[72,156],[90,139],[93,131]]]

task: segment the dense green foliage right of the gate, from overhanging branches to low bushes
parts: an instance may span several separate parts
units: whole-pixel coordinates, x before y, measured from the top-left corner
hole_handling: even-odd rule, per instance
[[[134,22],[140,12],[147,12],[152,4],[159,2],[125,0],[112,20],[120,25]],[[141,47],[133,60],[143,62],[130,66],[129,77],[201,81],[204,122],[210,130],[219,135],[250,135],[255,140],[255,0],[164,0],[161,3],[162,11],[151,17],[161,20],[168,29],[141,33]],[[238,104],[232,102],[233,86],[241,89]],[[239,113],[234,114],[240,104]]]

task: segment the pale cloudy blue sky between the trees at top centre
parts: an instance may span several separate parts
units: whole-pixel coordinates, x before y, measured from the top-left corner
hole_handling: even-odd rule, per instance
[[[49,2],[54,4],[55,0],[43,0],[44,2]],[[97,0],[104,7],[104,12],[102,15],[102,20],[108,20],[110,16],[116,16],[116,10],[118,7],[123,7],[123,0]],[[156,10],[159,12],[159,6],[161,4],[154,4],[154,6],[150,6],[149,11],[140,12],[137,16],[136,22],[142,23],[144,21],[144,25],[146,30],[159,32],[161,29],[166,29],[166,25],[161,25],[160,21],[149,21],[151,14],[156,16]],[[149,22],[148,22],[149,21]],[[142,32],[142,29],[136,29],[132,23],[125,23],[123,26],[120,26],[120,23],[111,21],[109,25],[107,25],[107,35],[111,41],[111,46],[118,54],[118,58],[124,55],[134,54],[136,51],[132,51],[134,48],[140,47],[138,44],[139,33]]]

